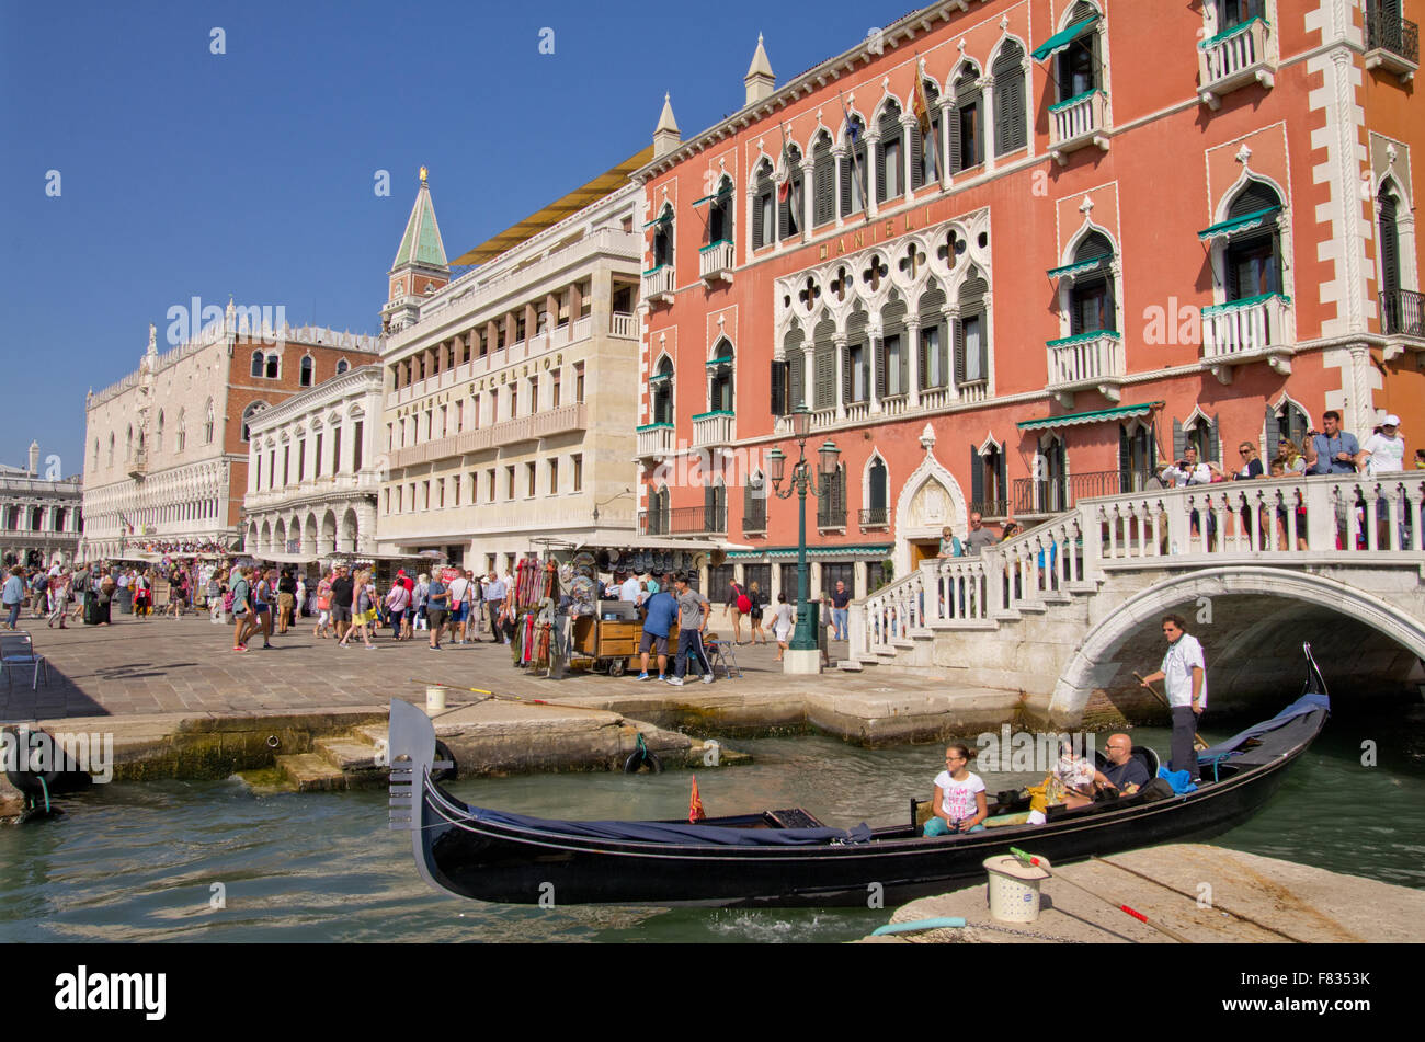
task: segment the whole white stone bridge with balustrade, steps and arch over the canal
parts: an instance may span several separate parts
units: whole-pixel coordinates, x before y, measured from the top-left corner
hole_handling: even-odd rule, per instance
[[[1084,500],[854,604],[842,668],[1017,690],[1054,726],[1106,722],[1154,705],[1133,672],[1157,669],[1171,611],[1203,642],[1214,709],[1298,689],[1302,641],[1338,696],[1418,696],[1422,510],[1421,471]]]

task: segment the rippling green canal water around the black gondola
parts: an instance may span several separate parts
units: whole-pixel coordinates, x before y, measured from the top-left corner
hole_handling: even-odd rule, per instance
[[[1227,732],[1207,732],[1226,737]],[[1167,750],[1167,732],[1134,739]],[[1378,766],[1361,763],[1377,743]],[[802,806],[829,824],[903,820],[931,794],[936,746],[866,750],[826,737],[730,742],[755,763],[698,772],[710,814]],[[985,774],[990,791],[1037,776]],[[465,780],[472,803],[547,817],[687,813],[690,776]],[[416,875],[383,790],[254,794],[237,782],[108,784],[57,821],[0,828],[0,942],[695,941],[862,937],[886,910],[530,908],[462,901]],[[1425,888],[1425,717],[1334,717],[1278,794],[1221,846]],[[222,907],[214,907],[221,884]]]

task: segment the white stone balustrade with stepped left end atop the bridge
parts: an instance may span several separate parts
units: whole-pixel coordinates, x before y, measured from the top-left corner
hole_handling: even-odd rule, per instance
[[[849,651],[869,658],[926,629],[993,628],[1090,592],[1106,569],[1324,559],[1425,565],[1425,473],[1294,475],[1083,500],[979,557],[925,561],[852,604]]]

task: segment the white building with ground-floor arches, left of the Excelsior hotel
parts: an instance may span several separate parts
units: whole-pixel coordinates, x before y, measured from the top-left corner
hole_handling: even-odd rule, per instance
[[[306,564],[376,544],[380,366],[352,369],[248,424],[248,552]]]

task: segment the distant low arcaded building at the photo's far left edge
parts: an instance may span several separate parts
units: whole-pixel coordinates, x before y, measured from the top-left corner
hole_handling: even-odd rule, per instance
[[[0,557],[6,565],[33,568],[73,564],[83,527],[83,483],[43,477],[38,441],[30,443],[27,458],[28,467],[0,464]]]

